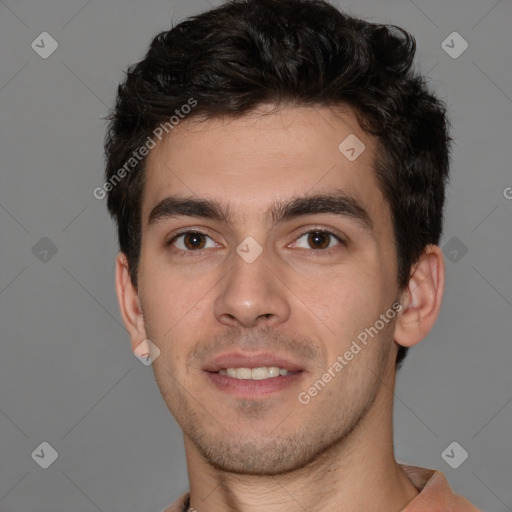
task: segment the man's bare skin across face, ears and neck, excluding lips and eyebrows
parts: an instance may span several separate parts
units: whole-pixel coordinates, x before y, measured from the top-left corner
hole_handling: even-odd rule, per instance
[[[352,162],[338,149],[349,134],[366,146]],[[148,156],[138,290],[122,253],[116,288],[132,348],[149,338],[161,351],[153,370],[183,430],[199,512],[398,512],[418,494],[393,453],[395,358],[399,344],[418,343],[433,326],[444,263],[438,246],[426,247],[408,287],[398,287],[375,151],[349,108],[262,106],[239,119],[183,121]],[[355,198],[373,231],[333,213],[268,216],[276,202],[333,191]],[[215,200],[230,221],[182,215],[148,224],[171,195]],[[206,237],[174,238],[183,228]],[[345,243],[311,239],[315,230]],[[236,252],[248,236],[262,249],[252,263]],[[402,311],[300,403],[396,301]],[[271,352],[304,371],[284,390],[234,397],[203,371],[232,350]]]

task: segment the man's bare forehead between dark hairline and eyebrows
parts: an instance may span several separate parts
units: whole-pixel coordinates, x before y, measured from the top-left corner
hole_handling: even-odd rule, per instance
[[[169,195],[214,199],[243,221],[276,201],[343,190],[379,216],[387,205],[375,150],[347,107],[261,107],[239,118],[184,120],[147,157],[143,225]]]

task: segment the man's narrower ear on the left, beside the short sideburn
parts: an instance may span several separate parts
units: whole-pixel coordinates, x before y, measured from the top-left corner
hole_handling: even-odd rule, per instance
[[[116,292],[121,316],[132,340],[132,351],[135,351],[146,339],[146,328],[137,290],[130,279],[128,260],[122,252],[116,258]]]

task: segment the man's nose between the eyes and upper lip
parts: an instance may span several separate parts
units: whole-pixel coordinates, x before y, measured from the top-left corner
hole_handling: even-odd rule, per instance
[[[215,299],[215,317],[222,324],[276,327],[290,317],[288,289],[265,252],[251,263],[233,254],[231,270],[219,283]]]

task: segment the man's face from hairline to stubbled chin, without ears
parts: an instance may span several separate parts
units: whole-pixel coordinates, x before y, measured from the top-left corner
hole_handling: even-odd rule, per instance
[[[365,145],[353,161],[338,148],[351,134]],[[148,156],[145,336],[187,449],[214,466],[303,467],[394,372],[396,252],[374,158],[348,109],[306,107],[183,121]]]

